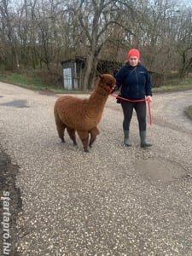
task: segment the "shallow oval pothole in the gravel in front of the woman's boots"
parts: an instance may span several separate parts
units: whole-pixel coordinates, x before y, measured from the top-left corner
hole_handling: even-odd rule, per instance
[[[137,160],[134,164],[137,172],[152,181],[168,182],[187,175],[183,166],[165,159]]]

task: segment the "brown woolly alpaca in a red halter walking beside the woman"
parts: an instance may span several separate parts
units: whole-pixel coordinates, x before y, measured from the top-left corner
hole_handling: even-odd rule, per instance
[[[103,74],[97,79],[96,89],[88,99],[75,96],[61,96],[57,99],[54,108],[55,124],[62,143],[65,143],[64,131],[67,128],[73,144],[77,145],[75,135],[77,131],[84,151],[88,152],[88,145],[91,147],[99,134],[96,125],[102,118],[103,108],[115,82],[112,75]]]

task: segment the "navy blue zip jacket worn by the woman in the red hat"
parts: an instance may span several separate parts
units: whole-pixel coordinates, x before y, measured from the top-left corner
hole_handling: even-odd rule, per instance
[[[121,96],[125,98],[135,100],[152,96],[150,75],[140,63],[137,67],[130,64],[121,67],[115,79],[118,89],[121,86]]]

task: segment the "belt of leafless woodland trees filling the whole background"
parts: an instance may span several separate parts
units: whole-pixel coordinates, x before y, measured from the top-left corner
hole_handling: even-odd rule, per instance
[[[24,0],[0,2],[0,64],[46,67],[85,56],[82,89],[93,84],[98,61],[125,61],[138,47],[151,71],[181,78],[191,71],[191,9],[177,0]]]

